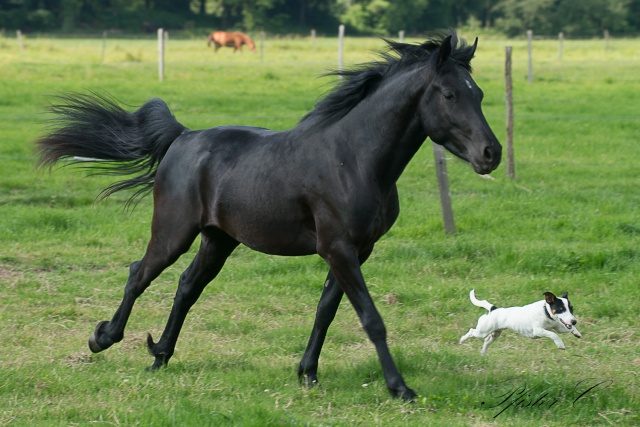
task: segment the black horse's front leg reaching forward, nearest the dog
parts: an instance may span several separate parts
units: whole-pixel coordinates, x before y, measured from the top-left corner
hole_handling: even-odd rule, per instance
[[[417,394],[407,387],[391,357],[387,345],[387,330],[367,290],[357,250],[348,242],[333,241],[327,251],[321,252],[321,256],[331,267],[332,273],[360,317],[362,327],[376,347],[389,392],[394,397],[401,397],[406,401],[413,400]]]

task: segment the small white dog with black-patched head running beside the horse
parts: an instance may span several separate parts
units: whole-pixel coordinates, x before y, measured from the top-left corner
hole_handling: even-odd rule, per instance
[[[486,308],[489,313],[480,316],[478,325],[475,329],[469,329],[460,338],[460,343],[471,337],[483,338],[484,345],[480,354],[484,355],[503,330],[511,329],[528,338],[551,338],[560,350],[564,350],[564,343],[553,331],[560,334],[571,332],[577,338],[582,337],[575,328],[578,321],[573,316],[573,306],[567,297],[567,292],[560,298],[551,292],[545,292],[542,301],[524,307],[497,308],[486,300],[478,301],[472,289],[469,298],[473,305]]]

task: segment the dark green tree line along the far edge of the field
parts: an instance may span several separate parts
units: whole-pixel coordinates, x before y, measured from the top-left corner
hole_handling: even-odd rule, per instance
[[[516,36],[640,33],[640,0],[0,0],[0,29],[26,32],[154,31],[201,33],[423,34],[469,28]]]

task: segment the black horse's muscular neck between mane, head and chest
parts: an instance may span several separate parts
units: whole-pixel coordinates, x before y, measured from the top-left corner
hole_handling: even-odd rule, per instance
[[[340,120],[350,134],[360,132],[353,138],[359,162],[368,162],[379,181],[395,183],[427,138],[416,114],[428,86],[425,74],[414,71],[383,83]]]

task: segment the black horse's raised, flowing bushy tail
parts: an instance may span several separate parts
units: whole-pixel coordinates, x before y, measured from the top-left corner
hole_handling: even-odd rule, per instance
[[[98,174],[133,175],[100,193],[137,188],[127,204],[153,187],[158,164],[173,141],[187,128],[173,117],[167,104],[155,98],[128,113],[116,100],[97,93],[66,94],[49,106],[53,130],[36,141],[39,167],[68,158],[72,164],[95,162]]]

